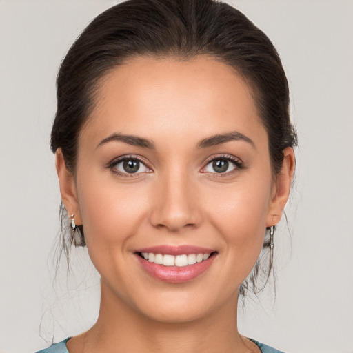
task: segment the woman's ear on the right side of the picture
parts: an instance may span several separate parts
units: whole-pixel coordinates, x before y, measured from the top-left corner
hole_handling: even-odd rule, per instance
[[[290,195],[290,187],[292,185],[295,168],[293,148],[285,148],[285,150],[283,150],[283,155],[284,158],[281,172],[276,175],[276,180],[274,181],[266,227],[271,227],[272,225],[279,223],[283,214],[283,209]]]

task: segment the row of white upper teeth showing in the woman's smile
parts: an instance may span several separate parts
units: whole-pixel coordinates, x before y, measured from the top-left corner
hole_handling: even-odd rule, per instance
[[[177,266],[184,267],[188,265],[194,265],[195,263],[201,263],[210,257],[208,254],[181,254],[181,255],[170,255],[170,254],[154,254],[153,252],[141,252],[143,259],[149,262],[156,263],[157,265],[164,266]]]

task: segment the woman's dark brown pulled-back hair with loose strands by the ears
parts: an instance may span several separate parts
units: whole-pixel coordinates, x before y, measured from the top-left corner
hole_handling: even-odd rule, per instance
[[[268,133],[272,173],[283,165],[283,150],[296,145],[290,123],[289,88],[279,54],[268,37],[244,14],[215,0],[128,0],[99,14],[74,42],[57,77],[57,114],[51,134],[52,152],[61,148],[73,174],[79,133],[90,119],[99,84],[114,68],[135,57],[191,60],[208,55],[230,65],[248,83],[261,122]],[[85,245],[83,225],[68,231],[68,214],[61,203],[61,244]],[[269,229],[263,252],[270,253],[261,270],[261,254],[240,294],[272,269]],[[267,261],[266,261],[267,262]]]

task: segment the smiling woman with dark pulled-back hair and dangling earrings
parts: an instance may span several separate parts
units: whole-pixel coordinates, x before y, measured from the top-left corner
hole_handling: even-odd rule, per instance
[[[236,310],[290,193],[288,96],[268,37],[225,3],[130,0],[90,23],[61,64],[52,151],[101,306],[41,352],[279,352]]]

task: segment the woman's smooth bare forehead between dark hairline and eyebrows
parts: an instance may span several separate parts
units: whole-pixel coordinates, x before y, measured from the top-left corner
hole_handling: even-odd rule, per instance
[[[232,130],[263,139],[252,92],[230,65],[208,56],[139,57],[103,78],[83,134],[90,140],[112,132],[155,139],[163,131],[174,139],[202,139]]]

